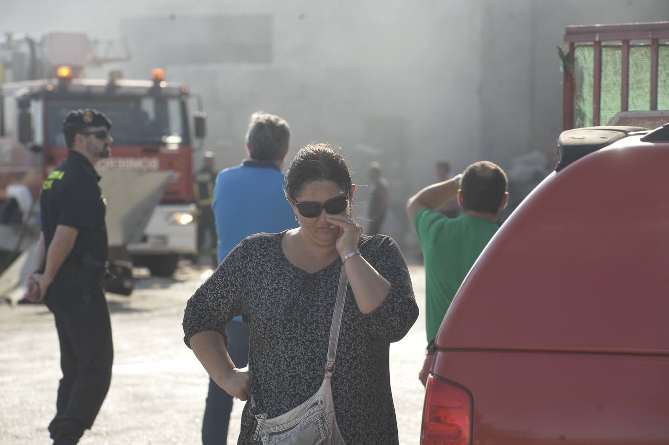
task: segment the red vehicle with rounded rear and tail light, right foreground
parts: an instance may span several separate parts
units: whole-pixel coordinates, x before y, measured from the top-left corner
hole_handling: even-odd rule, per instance
[[[669,444],[669,124],[578,128],[462,283],[422,444]]]

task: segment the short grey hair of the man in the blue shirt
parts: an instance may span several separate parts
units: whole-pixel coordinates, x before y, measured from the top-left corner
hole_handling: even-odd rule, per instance
[[[255,112],[246,132],[246,144],[255,160],[282,160],[290,144],[290,126],[276,114]]]

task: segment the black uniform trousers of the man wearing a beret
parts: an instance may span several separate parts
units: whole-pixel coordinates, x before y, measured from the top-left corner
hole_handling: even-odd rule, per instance
[[[63,372],[49,432],[54,445],[76,444],[93,425],[112,378],[109,309],[102,285],[84,293],[60,278],[50,285],[45,303],[56,319]]]

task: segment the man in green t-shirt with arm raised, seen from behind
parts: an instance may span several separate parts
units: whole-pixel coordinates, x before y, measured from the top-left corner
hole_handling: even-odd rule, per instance
[[[407,202],[425,261],[425,331],[427,357],[419,379],[425,385],[444,315],[481,251],[498,229],[497,216],[508,202],[504,170],[475,162],[452,179],[420,190]],[[457,218],[436,211],[458,197],[464,212]]]

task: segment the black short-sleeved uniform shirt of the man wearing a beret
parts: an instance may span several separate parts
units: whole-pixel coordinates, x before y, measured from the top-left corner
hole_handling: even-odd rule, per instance
[[[100,263],[107,259],[106,202],[98,185],[99,180],[100,176],[86,156],[70,150],[68,157],[44,181],[39,204],[46,249],[54,239],[56,226],[65,225],[79,230],[74,248],[60,267],[57,277],[76,273],[85,252]]]

